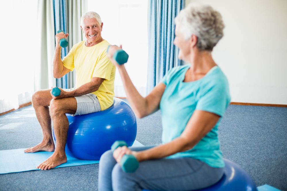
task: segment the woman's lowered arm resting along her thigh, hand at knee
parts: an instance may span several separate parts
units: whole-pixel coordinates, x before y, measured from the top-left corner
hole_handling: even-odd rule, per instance
[[[205,135],[207,135],[220,119],[219,115],[207,111],[195,110],[181,135],[169,143],[153,147],[144,151],[131,151],[127,147],[119,147],[114,157],[119,162],[124,154],[133,154],[137,160],[145,161],[159,159],[178,152],[192,149]]]

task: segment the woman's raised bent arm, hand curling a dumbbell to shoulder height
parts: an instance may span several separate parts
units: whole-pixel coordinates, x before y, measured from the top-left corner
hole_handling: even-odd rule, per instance
[[[121,48],[117,46],[111,46],[108,50],[108,58],[118,68],[121,75],[125,92],[127,94],[127,100],[131,104],[131,108],[135,112],[135,115],[139,118],[143,118],[159,109],[160,100],[165,89],[163,83],[158,84],[147,97],[142,97],[127,74],[124,64],[119,65],[114,59],[113,54],[116,50]],[[140,72],[140,71],[137,71]]]

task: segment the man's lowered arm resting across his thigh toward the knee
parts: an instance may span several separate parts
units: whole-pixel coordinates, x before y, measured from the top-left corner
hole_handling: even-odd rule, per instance
[[[77,97],[77,96],[86,95],[86,94],[97,91],[104,80],[105,80],[104,78],[93,77],[90,82],[83,84],[82,86],[78,87],[77,89],[75,89],[73,91],[66,92],[60,88],[61,93],[59,96],[55,97],[55,96],[53,96],[52,93],[51,93],[51,95],[52,95],[53,99],[59,99],[59,98],[64,98],[64,97]]]

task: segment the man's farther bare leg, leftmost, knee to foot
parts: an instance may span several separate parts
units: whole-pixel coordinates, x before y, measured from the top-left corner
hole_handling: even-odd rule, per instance
[[[52,100],[50,90],[40,90],[32,96],[32,105],[35,109],[36,117],[42,127],[43,140],[35,147],[30,147],[24,150],[25,153],[34,153],[38,151],[52,152],[55,150],[55,145],[52,136],[51,117],[49,105]]]

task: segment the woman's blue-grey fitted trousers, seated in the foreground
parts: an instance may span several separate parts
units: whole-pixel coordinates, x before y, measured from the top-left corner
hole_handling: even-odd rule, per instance
[[[99,191],[198,190],[215,184],[223,176],[223,168],[213,168],[188,157],[143,161],[135,172],[126,173],[115,161],[111,150],[101,156],[99,165]]]

